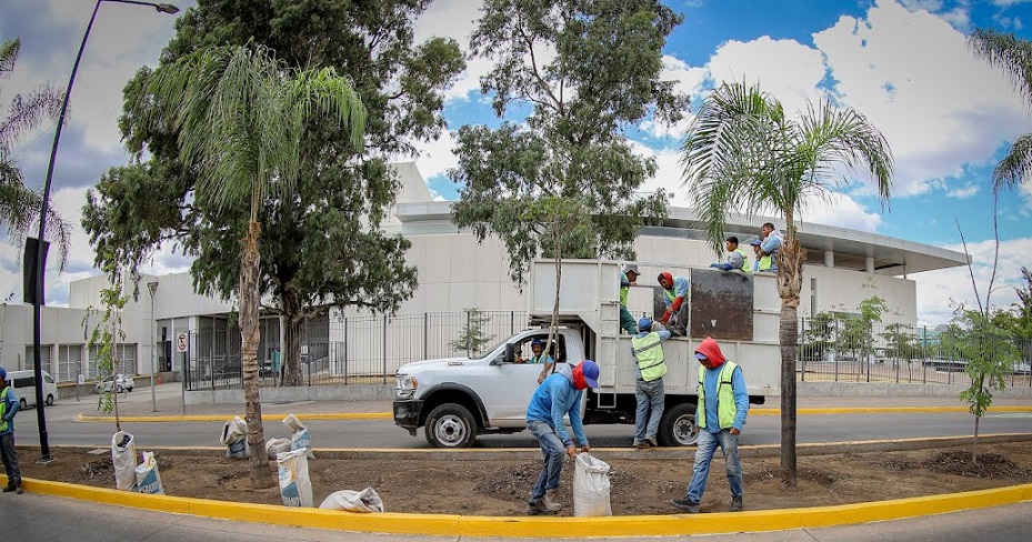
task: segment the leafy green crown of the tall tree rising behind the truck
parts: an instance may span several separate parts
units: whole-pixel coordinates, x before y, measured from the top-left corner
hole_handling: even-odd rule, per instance
[[[459,130],[452,211],[479,240],[502,240],[517,283],[542,254],[557,274],[562,257],[633,259],[638,229],[664,215],[664,192],[635,193],[657,167],[624,130],[650,113],[681,118],[688,98],[660,79],[681,20],[652,0],[484,2],[471,49],[494,64],[481,91],[499,118],[523,118]]]

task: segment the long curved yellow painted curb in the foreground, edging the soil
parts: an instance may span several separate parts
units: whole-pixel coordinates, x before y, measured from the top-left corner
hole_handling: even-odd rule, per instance
[[[839,506],[758,510],[734,514],[729,512],[613,518],[500,518],[402,513],[361,514],[149,495],[33,479],[24,479],[22,484],[27,491],[34,493],[251,523],[391,534],[548,539],[554,538],[558,530],[577,533],[581,538],[627,538],[812,529],[899,520],[1032,501],[1032,484],[1023,484],[946,495]]]

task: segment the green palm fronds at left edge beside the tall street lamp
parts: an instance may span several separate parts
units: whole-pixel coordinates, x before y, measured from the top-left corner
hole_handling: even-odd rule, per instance
[[[0,79],[9,77],[14,70],[21,40],[8,40],[0,44]],[[2,96],[2,92],[0,92]],[[22,96],[11,98],[7,118],[0,119],[0,222],[7,224],[8,235],[20,243],[26,232],[38,223],[42,209],[42,197],[26,188],[21,169],[14,162],[14,143],[28,131],[36,128],[44,117],[57,122],[61,111],[61,93],[43,87]],[[47,237],[54,239],[58,248],[60,269],[68,261],[71,225],[53,209],[47,212]]]

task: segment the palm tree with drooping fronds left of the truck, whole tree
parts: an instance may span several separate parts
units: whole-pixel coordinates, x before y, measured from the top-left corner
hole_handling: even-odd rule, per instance
[[[237,293],[251,482],[267,488],[273,480],[258,389],[258,212],[265,198],[293,190],[309,121],[347,124],[361,150],[365,108],[332,68],[288,69],[261,46],[201,49],[154,71],[148,91],[150,114],[178,132],[181,157],[198,173],[194,198],[217,209],[250,204]]]

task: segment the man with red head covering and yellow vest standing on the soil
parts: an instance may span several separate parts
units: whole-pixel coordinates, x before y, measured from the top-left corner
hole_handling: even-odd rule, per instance
[[[684,499],[670,501],[675,508],[691,514],[698,514],[705,491],[707,476],[710,474],[710,461],[717,446],[724,454],[728,482],[731,484],[731,512],[742,510],[742,463],[738,456],[738,435],[745,425],[749,413],[749,392],[742,368],[724,358],[720,344],[707,337],[695,350],[699,360],[699,406],[695,410],[695,424],[699,441],[695,443],[695,463],[692,466],[692,480],[688,484]]]

